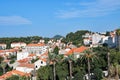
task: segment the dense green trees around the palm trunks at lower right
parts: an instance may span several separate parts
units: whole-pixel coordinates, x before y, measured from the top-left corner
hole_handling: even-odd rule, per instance
[[[110,53],[110,62],[108,62],[108,52]],[[95,54],[94,54],[95,53]],[[87,55],[87,56],[86,56]],[[74,60],[71,59],[72,65],[72,80],[83,80],[85,74],[88,74],[88,58],[90,61],[90,73],[94,73],[95,80],[101,80],[103,78],[103,72],[107,71],[108,68],[110,78],[116,77],[116,72],[120,76],[120,52],[117,49],[109,49],[107,47],[93,48],[92,52],[86,53],[85,56]],[[93,56],[94,55],[94,56]],[[56,58],[57,59],[57,58]],[[56,60],[55,59],[55,60]],[[61,59],[62,61],[56,61],[55,74],[56,80],[69,80],[70,79],[70,59]],[[108,63],[110,66],[108,67]],[[116,69],[118,66],[118,70]],[[37,71],[37,80],[53,80],[54,78],[54,64],[42,67]],[[108,77],[108,76],[107,76]],[[71,79],[70,79],[71,80]]]

